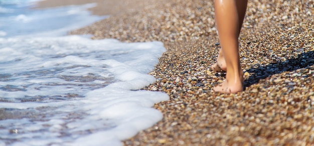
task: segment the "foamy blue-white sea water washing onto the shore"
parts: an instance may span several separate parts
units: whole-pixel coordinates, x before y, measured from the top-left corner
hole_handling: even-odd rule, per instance
[[[68,36],[106,16],[35,6],[0,0],[0,145],[122,145],[163,118],[169,96],[140,90],[163,43]]]

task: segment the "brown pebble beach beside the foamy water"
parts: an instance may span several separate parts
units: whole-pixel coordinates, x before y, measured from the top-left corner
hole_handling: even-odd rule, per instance
[[[249,1],[239,37],[245,90],[237,94],[212,90],[225,78],[210,70],[220,49],[214,1],[57,2],[40,6],[97,3],[93,14],[110,15],[69,34],[167,49],[144,88],[169,94],[154,105],[164,118],[125,145],[314,145],[314,1]]]

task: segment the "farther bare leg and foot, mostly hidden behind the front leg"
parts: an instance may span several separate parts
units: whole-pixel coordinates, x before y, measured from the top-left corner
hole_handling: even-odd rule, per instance
[[[237,33],[238,33],[237,38],[239,38],[240,31],[241,31],[242,24],[243,24],[243,20],[245,17],[247,0],[245,0],[243,2],[236,2],[236,7],[237,7],[237,12],[238,12],[237,15],[239,18],[239,28],[237,30]],[[219,8],[217,8],[217,9],[219,9]],[[217,61],[216,61],[216,63],[214,63],[211,66],[211,69],[215,72],[227,71],[227,65],[226,65],[226,61],[225,61],[225,57],[223,55],[222,49],[219,49],[219,55],[218,55]]]

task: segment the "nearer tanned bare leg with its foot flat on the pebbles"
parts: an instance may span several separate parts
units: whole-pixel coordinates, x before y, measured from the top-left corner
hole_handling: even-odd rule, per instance
[[[243,71],[239,59],[238,37],[246,7],[247,0],[215,0],[217,30],[227,71],[226,80],[214,87],[216,92],[243,91]]]

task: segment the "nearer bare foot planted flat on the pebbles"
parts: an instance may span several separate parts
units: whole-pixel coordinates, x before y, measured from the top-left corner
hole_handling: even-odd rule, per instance
[[[240,77],[235,77],[233,79],[226,80],[219,84],[218,86],[214,87],[213,90],[215,92],[221,93],[237,93],[243,91],[243,72],[241,71]]]

